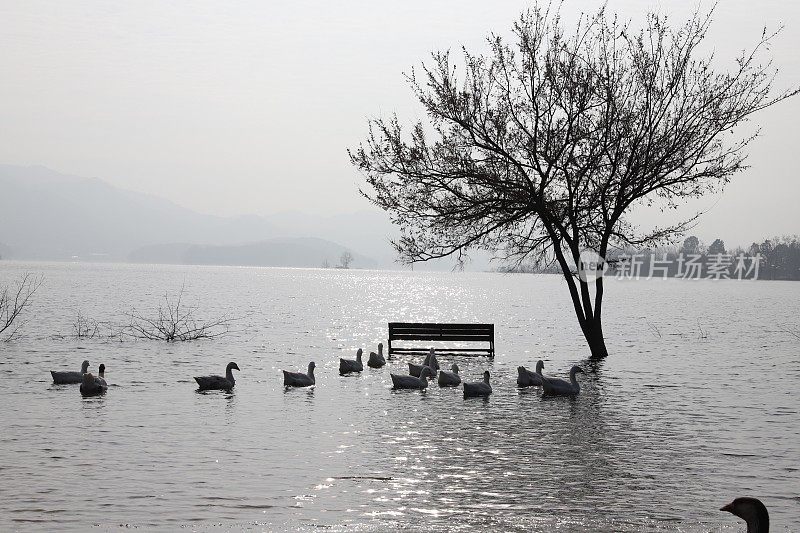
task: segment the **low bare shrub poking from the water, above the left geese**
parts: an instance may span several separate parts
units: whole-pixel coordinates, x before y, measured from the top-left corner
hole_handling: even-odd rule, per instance
[[[236,318],[223,315],[207,321],[195,318],[197,308],[184,304],[185,286],[181,287],[176,298],[164,295],[154,316],[145,316],[135,309],[127,313],[130,319],[128,334],[138,339],[161,340],[167,342],[213,339],[230,332]]]

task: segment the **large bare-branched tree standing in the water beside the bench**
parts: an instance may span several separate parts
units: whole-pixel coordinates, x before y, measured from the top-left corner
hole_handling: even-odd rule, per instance
[[[733,129],[798,92],[773,91],[766,30],[730,72],[698,57],[710,22],[696,13],[670,27],[650,14],[634,31],[601,9],[567,33],[558,9],[536,6],[513,45],[492,35],[488,55],[464,50],[461,75],[449,52],[434,53],[407,76],[428,123],[406,132],[397,117],[373,120],[350,151],[370,186],[362,194],[401,227],[401,257],[463,261],[484,249],[558,264],[592,357],[607,356],[603,278],[572,272],[581,253],[602,261],[610,248],[681,235],[699,214],[647,232],[627,215],[721,190],[754,138]]]

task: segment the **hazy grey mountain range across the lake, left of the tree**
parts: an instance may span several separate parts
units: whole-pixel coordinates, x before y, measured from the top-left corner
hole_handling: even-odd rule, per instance
[[[0,257],[6,259],[391,268],[383,214],[218,217],[97,178],[0,165]],[[362,251],[364,250],[364,251]]]

